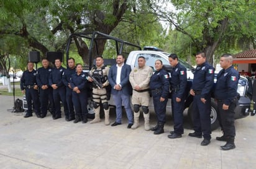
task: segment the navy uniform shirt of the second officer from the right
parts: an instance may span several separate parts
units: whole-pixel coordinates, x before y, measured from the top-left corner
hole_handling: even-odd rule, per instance
[[[214,84],[214,67],[207,62],[196,67],[191,89],[201,91],[201,98],[211,93]]]

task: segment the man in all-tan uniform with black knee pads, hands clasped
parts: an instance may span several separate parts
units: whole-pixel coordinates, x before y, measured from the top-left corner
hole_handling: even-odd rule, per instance
[[[150,130],[149,126],[149,81],[152,76],[153,69],[145,65],[146,60],[144,56],[139,56],[138,67],[135,67],[130,72],[129,80],[132,85],[132,105],[134,105],[134,124],[132,129],[139,127],[140,106],[142,106],[144,115],[145,131]]]

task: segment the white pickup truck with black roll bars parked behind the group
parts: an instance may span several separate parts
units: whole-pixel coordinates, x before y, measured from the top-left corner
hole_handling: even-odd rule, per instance
[[[96,32],[94,34],[96,35],[98,33],[99,32]],[[93,36],[94,36],[94,34],[93,34]],[[100,35],[104,36],[104,33],[100,33]],[[120,40],[118,38],[111,37],[109,35],[106,35],[106,38],[114,40],[114,41],[116,41],[116,43],[121,44],[121,45],[117,45],[117,46],[120,46],[120,48],[117,49],[116,51],[117,51],[117,53],[121,53],[121,54],[124,54],[124,56],[126,56],[126,64],[129,64],[132,69],[135,66],[138,66],[137,59],[139,56],[144,56],[147,61],[146,64],[148,66],[152,67],[152,69],[154,69],[155,60],[157,60],[157,59],[161,59],[163,64],[165,65],[165,67],[167,67],[167,69],[171,69],[171,66],[168,61],[168,56],[170,55],[169,53],[165,53],[162,50],[158,50],[157,48],[149,47],[149,46],[145,47],[144,50],[141,50],[141,48],[137,45],[133,45],[131,43]],[[91,43],[93,43],[93,41],[96,40],[96,37],[91,37],[90,39],[91,39]],[[133,45],[133,47],[135,46],[135,47],[139,48],[139,50],[134,50],[134,51],[130,51],[129,53],[124,53],[124,51],[122,51],[122,48],[124,45]],[[90,46],[93,46],[93,45],[90,45]],[[89,50],[91,50],[91,49],[89,49]],[[66,59],[68,59],[68,53],[66,53]],[[194,67],[190,66],[190,64],[186,63],[182,59],[179,59],[179,62],[183,66],[185,66],[187,69],[188,83],[186,86],[187,95],[186,95],[186,101],[185,101],[185,109],[188,108],[188,115],[192,118],[191,106],[192,106],[192,102],[193,102],[193,97],[189,94],[189,90],[190,90],[190,87],[191,87],[191,84],[193,81],[193,77],[194,77],[193,76]],[[113,64],[116,64],[116,59],[105,59],[104,63],[113,65]],[[93,65],[93,56],[89,56],[89,69],[91,68],[92,65]],[[154,69],[154,71],[155,71],[155,69]],[[216,80],[214,80],[214,82],[216,82]],[[239,87],[237,90],[237,92],[240,94],[240,99],[239,99],[239,103],[237,104],[237,107],[235,108],[235,118],[244,118],[245,116],[249,115],[249,113],[250,113],[250,99],[245,97],[247,88],[248,88],[248,80],[244,77],[240,77]],[[111,106],[115,105],[112,97],[109,100],[109,105],[111,105]],[[150,109],[150,112],[153,113],[154,109],[153,109],[152,99],[150,99],[149,109]],[[91,102],[89,102],[88,110],[89,110],[89,113],[93,113],[93,111],[92,111],[93,105]],[[170,98],[167,103],[167,113],[171,113]],[[217,105],[216,105],[216,102],[214,102],[214,99],[212,99],[211,100],[211,128],[214,130],[218,127],[219,127],[219,123],[217,121]]]

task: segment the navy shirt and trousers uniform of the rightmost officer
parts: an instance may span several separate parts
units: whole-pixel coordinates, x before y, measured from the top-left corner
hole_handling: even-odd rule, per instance
[[[224,137],[235,137],[234,109],[237,103],[237,84],[239,73],[233,66],[222,69],[217,75],[217,84],[214,97],[217,99],[218,119]],[[228,110],[223,110],[223,104],[228,105]]]

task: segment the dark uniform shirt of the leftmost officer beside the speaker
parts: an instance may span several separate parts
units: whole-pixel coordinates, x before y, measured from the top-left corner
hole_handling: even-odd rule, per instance
[[[37,71],[33,69],[33,71],[24,71],[21,77],[21,90],[24,90],[24,85],[36,85],[37,81],[35,76],[37,75]]]

